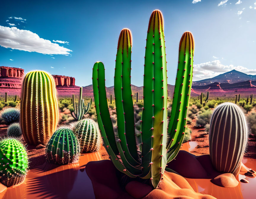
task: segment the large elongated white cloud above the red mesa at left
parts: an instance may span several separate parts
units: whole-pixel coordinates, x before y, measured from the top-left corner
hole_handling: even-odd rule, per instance
[[[0,46],[42,54],[70,54],[72,50],[40,38],[36,33],[0,25]]]

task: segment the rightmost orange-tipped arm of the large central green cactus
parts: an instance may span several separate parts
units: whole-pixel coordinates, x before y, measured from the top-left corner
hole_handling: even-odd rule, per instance
[[[194,39],[190,32],[183,33],[179,46],[179,62],[177,70],[177,78],[175,82],[175,89],[172,102],[171,118],[168,126],[167,142],[167,159],[172,155],[174,158],[178,150],[174,150],[175,154],[170,153],[174,148],[180,148],[183,134],[186,125],[186,115],[188,108],[188,101],[191,92],[192,75],[193,75],[193,53],[194,53]]]

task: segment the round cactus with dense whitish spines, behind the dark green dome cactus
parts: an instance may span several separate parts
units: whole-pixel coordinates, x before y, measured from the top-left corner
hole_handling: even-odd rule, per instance
[[[75,135],[80,144],[81,153],[96,152],[100,149],[100,130],[92,119],[80,120],[76,124]]]

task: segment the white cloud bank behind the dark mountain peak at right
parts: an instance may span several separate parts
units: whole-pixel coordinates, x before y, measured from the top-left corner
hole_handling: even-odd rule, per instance
[[[211,62],[195,64],[193,68],[193,81],[212,78],[231,70],[238,70],[251,75],[256,74],[256,69],[248,69],[243,66],[223,65],[220,63],[220,60],[214,60]]]

